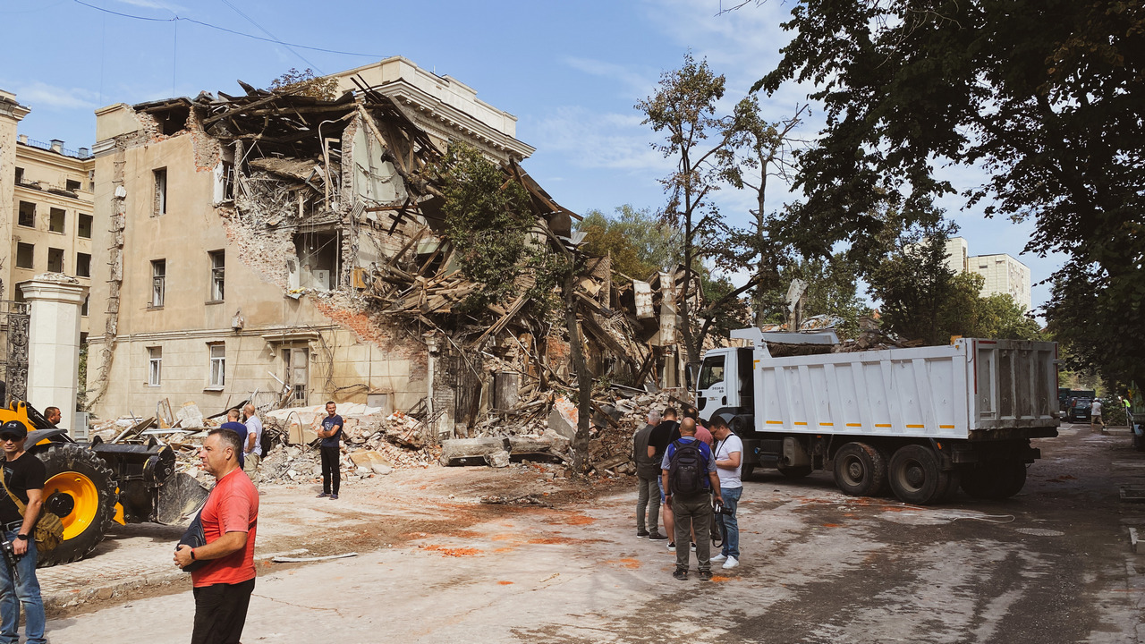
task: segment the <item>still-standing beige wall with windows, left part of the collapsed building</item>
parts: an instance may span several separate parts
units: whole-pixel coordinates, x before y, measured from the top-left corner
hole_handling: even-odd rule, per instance
[[[408,408],[426,395],[420,343],[365,341],[355,320],[340,319],[337,293],[292,297],[286,260],[293,251],[250,245],[227,219],[230,211],[215,206],[222,150],[202,132],[157,136],[145,120],[127,105],[97,112],[104,143],[96,172],[109,181],[97,187],[96,211],[111,220],[119,201],[125,222],[118,284],[116,233],[101,230],[93,241],[104,273],[93,286],[93,315],[103,325],[113,319],[116,329],[92,337],[89,382],[105,384],[94,392],[97,415],[151,415],[160,400],[172,409],[194,401],[214,414],[253,392],[278,393],[284,383],[300,386],[297,405],[365,402],[373,393]],[[163,213],[157,171],[166,175]],[[223,259],[221,298],[212,253]],[[159,261],[161,303],[155,294]],[[120,293],[118,312],[109,306],[112,289]]]

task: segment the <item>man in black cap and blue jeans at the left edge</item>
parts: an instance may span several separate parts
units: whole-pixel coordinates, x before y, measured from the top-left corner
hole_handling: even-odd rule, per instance
[[[39,458],[24,451],[26,438],[27,427],[19,421],[0,425],[0,446],[5,455],[3,485],[8,489],[0,495],[0,525],[3,527],[3,541],[11,543],[16,556],[15,571],[8,563],[0,564],[0,641],[19,641],[19,607],[23,605],[27,644],[45,644],[44,600],[40,599],[40,582],[35,579],[37,552],[32,534],[44,505],[47,470]],[[23,515],[13,495],[24,504]]]

